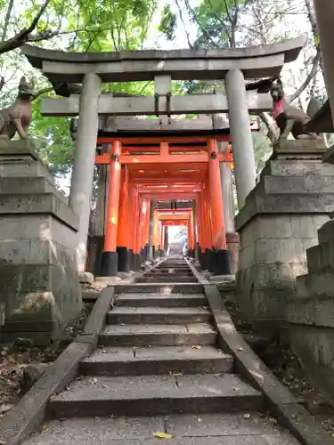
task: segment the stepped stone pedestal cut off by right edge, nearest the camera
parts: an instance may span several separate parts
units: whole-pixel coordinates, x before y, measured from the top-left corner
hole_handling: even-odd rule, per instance
[[[334,163],[331,150],[325,158]],[[297,277],[296,299],[285,316],[293,351],[334,403],[334,219],[322,225],[318,239],[319,244],[306,250],[308,272]]]

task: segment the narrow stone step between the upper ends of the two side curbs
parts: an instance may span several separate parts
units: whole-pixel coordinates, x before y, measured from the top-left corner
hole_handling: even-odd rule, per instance
[[[115,285],[115,294],[202,294],[200,283],[136,283]]]

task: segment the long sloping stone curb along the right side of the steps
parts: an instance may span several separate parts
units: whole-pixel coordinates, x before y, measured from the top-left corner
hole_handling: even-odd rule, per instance
[[[236,371],[265,396],[268,409],[279,423],[292,433],[301,445],[332,445],[309,412],[302,407],[286,386],[273,376],[257,354],[245,342],[232,322],[216,285],[205,284],[204,292],[213,313],[219,343],[235,360]]]

